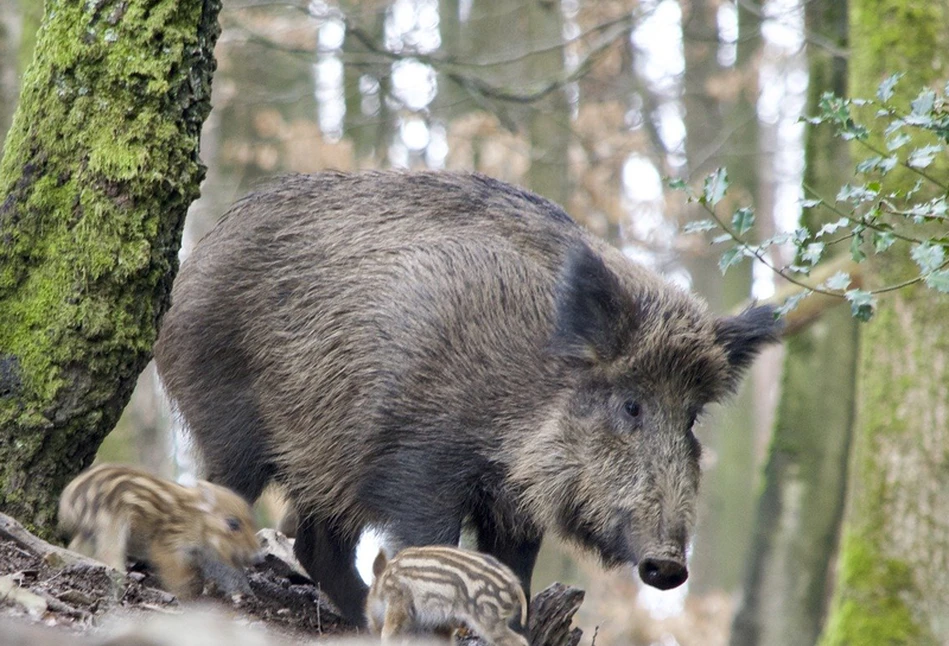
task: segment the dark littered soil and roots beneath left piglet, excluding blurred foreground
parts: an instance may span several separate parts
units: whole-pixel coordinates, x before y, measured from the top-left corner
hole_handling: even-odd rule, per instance
[[[205,590],[198,601],[182,603],[162,590],[144,567],[134,567],[127,574],[117,572],[46,543],[0,515],[0,620],[4,625],[55,628],[63,640],[60,643],[67,644],[70,634],[94,634],[101,626],[128,617],[213,608],[294,641],[355,634],[309,579],[273,553],[248,568],[247,575],[253,595],[227,598]]]

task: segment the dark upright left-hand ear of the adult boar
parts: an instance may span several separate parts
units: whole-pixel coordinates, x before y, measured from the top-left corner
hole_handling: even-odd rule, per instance
[[[572,249],[557,284],[556,354],[610,360],[632,332],[633,304],[616,275],[586,245]]]

